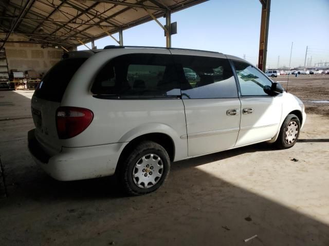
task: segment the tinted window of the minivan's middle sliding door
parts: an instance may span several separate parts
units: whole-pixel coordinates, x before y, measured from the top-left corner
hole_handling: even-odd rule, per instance
[[[227,59],[174,55],[180,68],[182,98],[231,98],[237,97],[236,83]]]

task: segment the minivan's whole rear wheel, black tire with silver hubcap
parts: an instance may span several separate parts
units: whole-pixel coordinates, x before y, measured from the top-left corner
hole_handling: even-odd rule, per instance
[[[153,141],[141,142],[119,164],[119,180],[130,195],[157,190],[168,177],[170,159],[165,148]]]

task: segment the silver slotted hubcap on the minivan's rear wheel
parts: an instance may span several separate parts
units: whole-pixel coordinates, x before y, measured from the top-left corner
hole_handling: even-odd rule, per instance
[[[139,188],[151,188],[161,178],[163,163],[156,154],[147,154],[141,157],[133,169],[133,180]]]

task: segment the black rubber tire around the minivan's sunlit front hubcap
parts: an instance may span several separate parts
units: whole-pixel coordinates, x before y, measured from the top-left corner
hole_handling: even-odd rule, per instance
[[[290,132],[291,136],[294,137],[294,139],[291,140],[291,141],[286,141],[286,130],[287,130],[287,127],[290,125],[290,123],[292,125],[297,125],[298,129],[297,129],[297,133],[296,133],[296,131],[295,132]],[[275,142],[277,148],[279,148],[279,149],[289,149],[289,148],[293,147],[297,142],[297,139],[299,137],[299,133],[300,133],[299,118],[295,114],[288,114],[287,117],[285,118],[285,120],[283,121],[278,139]],[[294,134],[295,134],[295,136],[294,136]]]

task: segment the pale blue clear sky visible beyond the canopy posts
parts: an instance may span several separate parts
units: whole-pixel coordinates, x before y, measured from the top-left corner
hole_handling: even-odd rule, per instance
[[[218,51],[246,57],[258,63],[261,3],[259,0],[210,0],[172,14],[177,34],[172,47]],[[165,18],[158,18],[165,25]],[[114,34],[118,39],[118,34]],[[272,0],[269,20],[267,65],[303,66],[306,46],[307,60],[312,65],[329,63],[329,0]],[[111,37],[95,41],[98,49],[117,45]],[[166,46],[163,30],[152,20],[123,31],[123,45]],[[89,44],[89,47],[91,45]],[[78,50],[86,49],[84,46]]]

